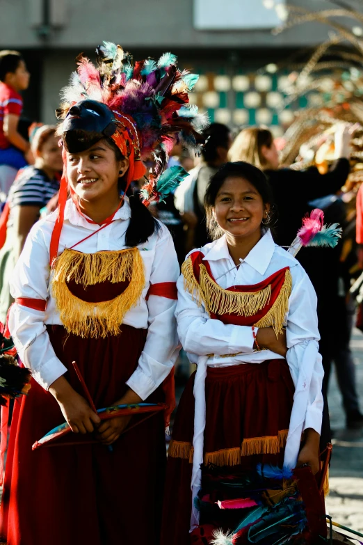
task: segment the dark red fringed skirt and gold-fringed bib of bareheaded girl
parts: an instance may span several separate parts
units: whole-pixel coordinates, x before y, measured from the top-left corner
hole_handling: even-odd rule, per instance
[[[276,332],[281,331],[292,285],[288,267],[257,285],[223,290],[203,258],[200,252],[192,253],[182,272],[186,289],[198,303],[204,303],[212,319],[224,324],[273,326]],[[209,514],[204,510],[199,527],[189,534],[195,496],[191,492],[194,383],[195,373],[179,402],[168,450],[161,545],[207,545],[213,530],[236,528],[241,519],[240,510],[212,509]],[[207,367],[200,497],[205,493],[214,500],[226,499],[211,486],[223,475],[233,480],[236,475],[254,471],[259,463],[282,467],[294,391],[284,359]]]

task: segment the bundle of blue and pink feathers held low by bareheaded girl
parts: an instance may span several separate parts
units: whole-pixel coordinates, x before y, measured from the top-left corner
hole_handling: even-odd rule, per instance
[[[195,503],[200,526],[191,533],[193,545],[304,545],[326,537],[324,505],[309,468],[259,464],[232,475],[227,467],[203,466]]]

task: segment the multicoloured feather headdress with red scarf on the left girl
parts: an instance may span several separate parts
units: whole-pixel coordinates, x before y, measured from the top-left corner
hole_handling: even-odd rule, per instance
[[[112,42],[103,42],[96,52],[97,66],[83,54],[77,58],[78,68],[61,91],[63,102],[56,115],[65,120],[81,100],[106,104],[117,125],[111,139],[129,158],[127,187],[145,175],[143,161],[151,159],[153,167],[141,196],[145,205],[152,200],[159,202],[186,176],[179,168],[161,177],[175,143],[193,152],[199,152],[204,143],[201,133],[209,125],[208,117],[198,113],[188,97],[198,76],[188,70],[181,72],[177,57],[171,53],[164,53],[159,61],[147,58],[134,63],[130,54]],[[62,125],[58,133],[62,134]],[[61,187],[60,206],[66,193]],[[57,244],[52,246],[58,250]]]

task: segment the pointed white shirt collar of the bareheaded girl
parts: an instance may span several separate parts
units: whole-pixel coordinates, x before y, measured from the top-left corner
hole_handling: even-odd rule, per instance
[[[268,229],[243,262],[248,263],[250,267],[253,267],[259,274],[265,274],[274,251],[275,242],[273,242],[271,231]],[[229,259],[229,257],[227,238],[223,235],[223,237],[220,237],[206,253],[204,260],[218,261],[220,259]]]

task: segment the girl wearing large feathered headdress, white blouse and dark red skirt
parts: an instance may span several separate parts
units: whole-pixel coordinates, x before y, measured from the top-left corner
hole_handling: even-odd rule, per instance
[[[1,537],[13,545],[159,544],[161,412],[102,420],[99,409],[165,401],[168,424],[179,266],[147,205],[186,175],[163,173],[169,152],[176,141],[197,150],[207,120],[188,100],[197,77],[174,55],[133,63],[110,42],[97,52],[97,68],[78,58],[58,110],[58,210],[31,230],[11,282],[10,331],[33,374],[1,503]],[[129,185],[150,155],[141,203]],[[72,433],[38,448],[63,420]]]

